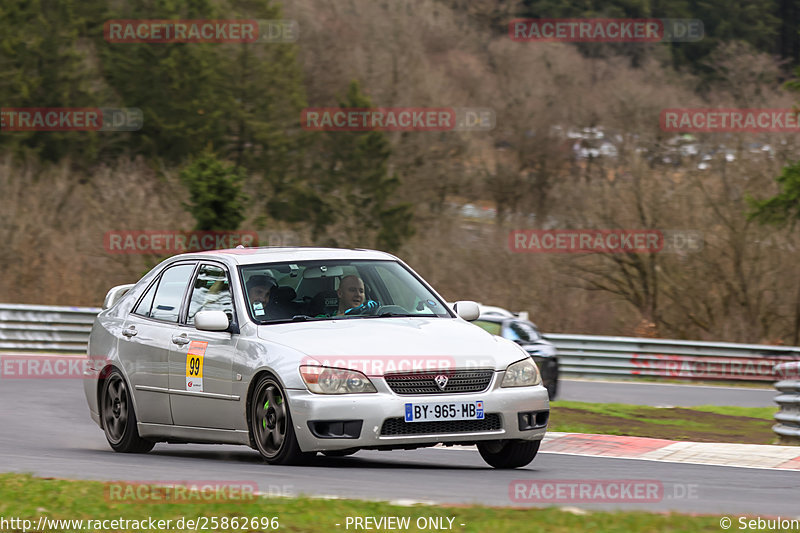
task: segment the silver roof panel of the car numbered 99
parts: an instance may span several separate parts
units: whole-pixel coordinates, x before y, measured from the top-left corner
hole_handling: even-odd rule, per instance
[[[221,259],[236,265],[252,265],[258,263],[278,263],[283,261],[315,261],[315,260],[397,260],[386,252],[365,250],[360,248],[316,248],[316,247],[277,247],[262,246],[256,248],[230,248],[226,250],[207,250],[181,254],[172,259]]]

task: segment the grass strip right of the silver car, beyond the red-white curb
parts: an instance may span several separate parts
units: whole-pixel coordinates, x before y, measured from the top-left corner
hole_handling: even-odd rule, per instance
[[[554,401],[550,431],[602,433],[695,442],[774,444],[776,407],[647,407]]]

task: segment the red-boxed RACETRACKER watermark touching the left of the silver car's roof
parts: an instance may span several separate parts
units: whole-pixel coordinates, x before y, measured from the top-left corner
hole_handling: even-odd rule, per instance
[[[182,254],[258,246],[255,231],[107,231],[103,247],[110,254]]]

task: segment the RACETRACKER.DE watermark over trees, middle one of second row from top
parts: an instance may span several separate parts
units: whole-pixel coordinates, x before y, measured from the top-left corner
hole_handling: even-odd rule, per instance
[[[300,124],[308,131],[490,131],[495,113],[484,107],[309,107]]]

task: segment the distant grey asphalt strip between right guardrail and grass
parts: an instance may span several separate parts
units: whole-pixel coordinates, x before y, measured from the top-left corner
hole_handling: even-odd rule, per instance
[[[739,407],[776,407],[778,392],[750,387],[717,385],[679,385],[624,381],[589,381],[561,379],[557,400],[597,403],[627,403],[655,407],[692,407],[696,405],[733,405]]]

